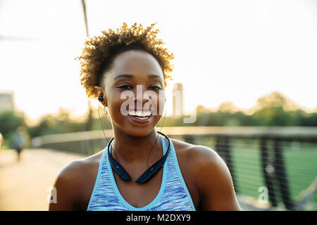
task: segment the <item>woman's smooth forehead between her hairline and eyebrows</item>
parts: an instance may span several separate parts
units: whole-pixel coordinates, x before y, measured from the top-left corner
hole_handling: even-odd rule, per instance
[[[163,80],[163,72],[159,62],[145,51],[125,51],[113,58],[109,77],[129,74],[134,76],[159,75]]]

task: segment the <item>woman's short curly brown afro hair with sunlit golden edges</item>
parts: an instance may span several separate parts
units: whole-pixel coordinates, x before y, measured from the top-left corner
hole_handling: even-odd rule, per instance
[[[97,98],[94,86],[103,86],[104,74],[111,69],[113,58],[129,50],[147,51],[154,56],[161,65],[164,85],[167,86],[166,79],[172,79],[168,73],[173,71],[170,60],[174,55],[163,48],[163,41],[156,37],[159,30],[152,30],[155,24],[144,29],[141,24],[128,27],[123,23],[117,31],[108,29],[102,31],[102,35],[85,41],[82,54],[76,59],[80,60],[80,84],[84,86],[88,98]]]

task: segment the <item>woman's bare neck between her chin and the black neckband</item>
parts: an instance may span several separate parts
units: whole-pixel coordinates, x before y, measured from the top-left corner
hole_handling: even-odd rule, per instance
[[[161,135],[157,133],[155,127],[150,134],[142,137],[130,136],[116,130],[114,130],[113,133],[115,138],[111,144],[113,147],[111,148],[111,155],[114,159],[116,159],[117,156],[120,164],[147,162],[150,151],[149,165],[153,164],[163,156],[161,150]],[[113,149],[116,154],[113,153]]]

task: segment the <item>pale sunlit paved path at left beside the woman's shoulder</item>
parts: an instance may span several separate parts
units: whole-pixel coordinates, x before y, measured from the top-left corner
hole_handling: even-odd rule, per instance
[[[48,210],[48,188],[68,162],[80,155],[47,149],[0,150],[0,210]]]

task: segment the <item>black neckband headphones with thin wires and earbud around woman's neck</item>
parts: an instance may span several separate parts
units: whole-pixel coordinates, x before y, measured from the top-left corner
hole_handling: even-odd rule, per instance
[[[103,96],[98,96],[98,100],[99,100],[99,102],[103,102],[104,101],[104,97]],[[99,113],[99,108],[98,108],[98,113]],[[99,119],[100,119],[100,122],[101,122],[100,114],[99,114]],[[164,115],[164,120],[165,120],[165,115]],[[163,124],[164,124],[164,120],[163,120]],[[163,124],[162,124],[162,127],[163,127]],[[102,122],[101,122],[101,127],[102,127]],[[161,127],[161,129],[162,129],[162,127]],[[104,127],[102,127],[102,131],[104,131]],[[141,183],[142,184],[142,183],[145,183],[145,182],[149,181],[149,179],[151,179],[163,167],[164,162],[166,161],[166,159],[168,157],[168,153],[170,152],[170,139],[168,138],[168,136],[166,134],[163,134],[161,131],[157,131],[157,132],[159,134],[163,135],[168,140],[168,150],[166,151],[166,154],[163,155],[163,157],[160,160],[158,160],[158,161],[156,161],[154,163],[154,165],[151,165],[151,167],[148,166],[148,169],[141,176],[139,176],[139,178],[135,181],[136,183]],[[104,136],[106,138],[106,134],[104,134]],[[156,137],[156,141],[157,141],[158,138],[159,138],[159,135]],[[126,172],[125,169],[123,168],[123,166],[121,166],[120,163],[117,162],[111,156],[110,147],[112,148],[111,142],[113,141],[113,139],[114,139],[114,137],[110,141],[108,141],[108,139],[107,139],[107,141],[108,141],[108,146],[107,146],[108,160],[110,162],[110,165],[114,169],[114,171],[116,171],[118,176],[120,176],[121,179],[123,179],[125,181],[130,181],[131,180],[131,176],[128,174],[128,172]],[[151,150],[153,150],[156,141],[154,142],[154,145],[151,148]],[[150,150],[149,154],[151,153],[151,150]],[[113,149],[113,152],[116,154],[114,149]],[[147,159],[149,160],[149,155],[148,155]],[[117,158],[117,160],[118,160],[118,158]]]

